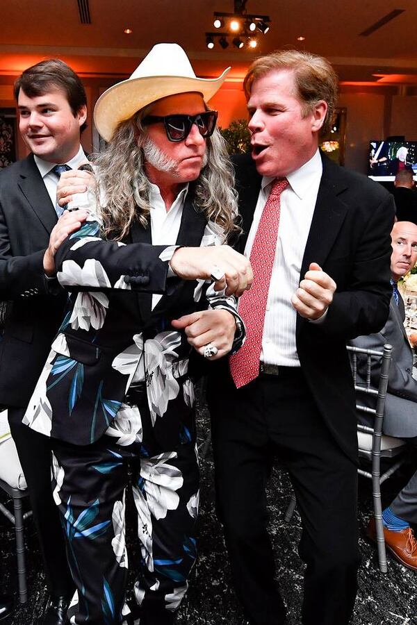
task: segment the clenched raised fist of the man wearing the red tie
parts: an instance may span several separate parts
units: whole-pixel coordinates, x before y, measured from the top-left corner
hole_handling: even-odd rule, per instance
[[[320,265],[311,263],[291,303],[301,317],[316,321],[329,308],[335,291],[336,282],[322,271]]]

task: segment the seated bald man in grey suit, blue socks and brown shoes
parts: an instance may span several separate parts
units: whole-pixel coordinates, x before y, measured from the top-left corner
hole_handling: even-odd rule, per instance
[[[391,239],[393,295],[389,318],[380,332],[359,336],[352,341],[352,345],[379,351],[382,351],[385,343],[393,346],[385,403],[384,434],[406,439],[417,448],[417,380],[413,377],[413,351],[404,329],[404,302],[397,289],[398,280],[417,261],[416,224],[396,222]],[[366,419],[366,415],[362,417]],[[417,570],[417,541],[410,527],[410,523],[417,523],[417,472],[382,512],[382,522],[388,549],[404,566]],[[372,540],[376,540],[373,518],[370,519],[367,533]]]

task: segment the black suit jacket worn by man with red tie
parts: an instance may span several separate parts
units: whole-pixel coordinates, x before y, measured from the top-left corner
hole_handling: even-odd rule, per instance
[[[236,157],[234,164],[243,227],[236,247],[243,252],[261,176],[250,155]],[[301,278],[309,264],[316,262],[334,278],[337,290],[322,324],[311,324],[297,315],[297,352],[329,431],[354,461],[356,412],[345,344],[358,335],[379,331],[388,317],[394,214],[393,198],[381,185],[323,158]]]

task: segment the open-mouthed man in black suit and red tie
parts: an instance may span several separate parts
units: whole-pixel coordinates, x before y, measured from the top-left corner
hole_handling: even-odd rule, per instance
[[[320,154],[337,77],[281,51],[244,81],[252,154],[235,160],[252,289],[247,341],[209,385],[218,514],[251,625],[284,623],[266,530],[277,456],[302,517],[303,625],[343,625],[357,591],[357,433],[348,339],[382,328],[391,288],[392,197]],[[288,493],[288,497],[289,497]],[[281,503],[282,508],[286,501]]]

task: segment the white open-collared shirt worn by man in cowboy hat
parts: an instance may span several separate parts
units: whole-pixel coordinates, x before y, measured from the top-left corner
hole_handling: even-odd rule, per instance
[[[170,210],[167,211],[161,192],[156,185],[150,183],[149,206],[151,207],[152,245],[174,245],[177,242],[181,217],[186,201],[188,184],[181,189]],[[162,295],[152,295],[152,310]]]

